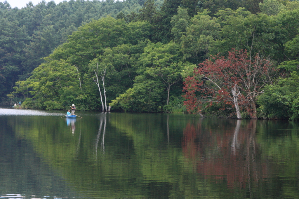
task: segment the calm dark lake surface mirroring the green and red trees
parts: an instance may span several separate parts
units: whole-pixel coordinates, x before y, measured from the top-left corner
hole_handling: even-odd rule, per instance
[[[299,198],[299,123],[0,108],[0,198]]]

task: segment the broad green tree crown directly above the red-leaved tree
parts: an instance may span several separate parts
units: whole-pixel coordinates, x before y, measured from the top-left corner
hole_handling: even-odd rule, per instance
[[[248,14],[248,11],[239,8],[221,10],[218,20],[222,24],[220,36],[210,49],[210,53],[225,55],[231,48],[246,49],[250,60],[256,55],[271,56],[275,60],[283,60],[280,53],[283,50],[284,34],[280,31],[281,24],[274,17],[266,14]],[[225,51],[224,51],[225,50]]]

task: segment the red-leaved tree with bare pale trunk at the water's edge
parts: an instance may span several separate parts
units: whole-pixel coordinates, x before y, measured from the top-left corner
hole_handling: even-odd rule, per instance
[[[189,112],[198,113],[205,112],[211,106],[218,107],[218,113],[234,108],[227,117],[237,114],[238,119],[242,118],[240,110],[243,109],[252,119],[256,119],[256,98],[263,93],[265,84],[272,83],[275,69],[269,60],[258,56],[251,62],[246,50],[232,49],[228,53],[227,59],[219,55],[211,56],[210,60],[194,69],[192,77],[185,79],[184,104]]]

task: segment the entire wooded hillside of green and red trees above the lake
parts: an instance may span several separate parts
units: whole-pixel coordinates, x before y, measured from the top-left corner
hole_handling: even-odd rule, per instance
[[[299,118],[299,1],[4,1],[0,12],[2,103]]]

